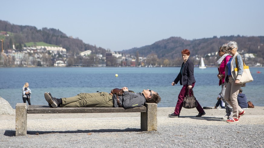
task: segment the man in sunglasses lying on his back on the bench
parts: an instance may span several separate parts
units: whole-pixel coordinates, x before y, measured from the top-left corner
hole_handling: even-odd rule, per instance
[[[59,107],[124,107],[134,108],[142,107],[144,103],[158,103],[160,96],[153,90],[143,90],[142,93],[129,92],[127,87],[122,87],[123,95],[98,92],[98,93],[79,93],[77,96],[69,98],[54,98],[51,93],[44,93],[49,106]]]

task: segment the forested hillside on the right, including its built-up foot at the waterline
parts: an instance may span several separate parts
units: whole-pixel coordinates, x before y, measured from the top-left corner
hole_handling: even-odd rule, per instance
[[[206,65],[215,65],[219,58],[217,52],[219,47],[230,41],[238,43],[238,52],[242,55],[252,53],[254,58],[247,58],[248,65],[264,65],[264,36],[214,36],[212,38],[186,40],[181,37],[170,37],[153,43],[152,45],[139,48],[123,50],[123,53],[135,55],[138,53],[141,57],[160,59],[158,65],[181,65],[181,51],[189,49],[191,59],[195,65],[199,65],[200,58],[204,57]],[[166,64],[164,63],[166,61]]]

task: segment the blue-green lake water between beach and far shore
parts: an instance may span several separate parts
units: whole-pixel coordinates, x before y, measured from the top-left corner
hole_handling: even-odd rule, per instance
[[[180,71],[177,67],[156,68],[0,68],[0,96],[15,108],[23,103],[22,87],[29,83],[32,105],[47,105],[44,92],[57,98],[75,96],[78,93],[110,92],[113,88],[128,87],[142,92],[143,89],[157,91],[161,96],[158,107],[174,107],[182,88],[171,82]],[[254,81],[242,87],[248,101],[264,106],[264,68],[250,68]],[[257,74],[256,71],[262,72]],[[217,68],[194,68],[196,83],[194,95],[202,106],[214,106],[221,87],[218,86]],[[118,74],[118,77],[115,77]]]

